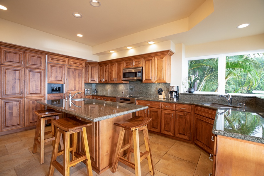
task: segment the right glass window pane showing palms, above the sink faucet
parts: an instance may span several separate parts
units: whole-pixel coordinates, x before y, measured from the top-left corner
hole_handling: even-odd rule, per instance
[[[264,94],[264,53],[226,57],[227,93]]]

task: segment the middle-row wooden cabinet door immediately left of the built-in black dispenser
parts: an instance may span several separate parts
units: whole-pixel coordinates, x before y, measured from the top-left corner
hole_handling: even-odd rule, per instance
[[[25,96],[45,96],[45,71],[44,69],[26,68]]]

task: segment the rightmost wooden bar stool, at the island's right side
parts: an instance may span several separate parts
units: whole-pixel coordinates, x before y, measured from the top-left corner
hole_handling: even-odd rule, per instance
[[[148,128],[147,124],[152,119],[142,116],[134,116],[131,119],[128,119],[126,121],[116,122],[114,125],[119,126],[122,128],[119,134],[118,142],[117,142],[117,148],[116,148],[116,154],[114,158],[113,168],[112,172],[115,173],[118,167],[118,161],[121,163],[131,167],[132,169],[135,169],[136,176],[141,175],[141,167],[140,162],[147,157],[148,159],[148,167],[150,175],[154,175],[154,167],[152,162],[152,156],[150,151],[150,145],[149,145],[149,137],[148,137]],[[125,130],[129,131],[129,143],[122,146]],[[144,134],[144,140],[145,140],[145,146],[146,151],[144,153],[139,151],[139,137],[138,137],[138,131],[143,131]],[[132,135],[133,133],[133,135]],[[132,140],[133,136],[133,140]],[[134,148],[132,148],[132,141]],[[127,159],[124,159],[120,156],[120,153],[124,150],[128,149],[127,153]],[[135,156],[135,163],[131,162],[131,154],[134,153]]]

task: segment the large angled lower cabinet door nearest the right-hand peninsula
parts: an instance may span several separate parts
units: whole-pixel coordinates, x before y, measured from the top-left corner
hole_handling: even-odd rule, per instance
[[[194,114],[194,143],[208,153],[213,153],[212,129],[214,120]]]

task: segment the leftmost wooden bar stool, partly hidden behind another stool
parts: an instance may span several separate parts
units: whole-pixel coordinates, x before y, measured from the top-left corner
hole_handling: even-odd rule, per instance
[[[55,130],[54,126],[51,126],[51,131],[44,132],[45,130],[45,120],[51,119],[53,121],[54,119],[59,119],[60,114],[62,112],[57,112],[53,109],[44,109],[44,110],[38,110],[34,111],[35,114],[38,116],[37,119],[37,125],[36,125],[36,130],[35,130],[35,138],[34,138],[34,144],[33,144],[33,151],[32,153],[37,152],[37,146],[40,148],[40,164],[44,163],[44,143],[53,141],[55,139]],[[39,134],[40,132],[40,134]],[[52,137],[44,139],[45,135],[48,135],[52,133]],[[38,139],[40,137],[40,139]],[[61,143],[61,147],[63,147]]]

